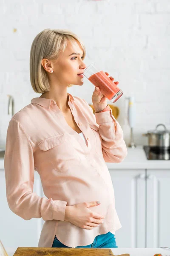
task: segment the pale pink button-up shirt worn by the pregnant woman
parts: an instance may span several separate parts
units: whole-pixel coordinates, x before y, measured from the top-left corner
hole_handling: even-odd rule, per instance
[[[21,218],[45,220],[38,247],[51,247],[55,235],[69,247],[84,246],[121,227],[105,162],[120,163],[126,157],[122,128],[111,110],[94,115],[84,99],[71,94],[68,99],[87,145],[51,99],[32,99],[8,125],[4,158],[7,201]],[[47,198],[33,192],[34,170]],[[64,221],[66,205],[90,201],[101,202],[89,209],[105,216],[103,224],[87,230]]]

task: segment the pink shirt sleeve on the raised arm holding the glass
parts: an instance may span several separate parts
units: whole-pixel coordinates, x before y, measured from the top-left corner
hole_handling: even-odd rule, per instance
[[[88,103],[87,103],[88,104]],[[93,109],[90,108],[93,119],[99,125],[99,134],[102,137],[102,153],[105,162],[121,163],[127,156],[127,147],[123,139],[123,131],[119,122],[109,110],[109,106],[99,113],[93,114]]]

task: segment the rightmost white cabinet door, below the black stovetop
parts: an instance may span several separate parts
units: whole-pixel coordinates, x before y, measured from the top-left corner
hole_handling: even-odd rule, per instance
[[[147,247],[170,247],[170,170],[147,170]]]

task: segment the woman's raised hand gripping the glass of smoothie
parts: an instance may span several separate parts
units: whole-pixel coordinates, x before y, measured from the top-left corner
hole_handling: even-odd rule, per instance
[[[107,76],[109,75],[107,72],[105,72],[105,74]],[[109,76],[109,78],[111,79],[111,81],[114,80],[114,78],[112,76]],[[119,84],[118,81],[116,81],[114,83],[116,85]],[[95,112],[102,111],[103,109],[105,109],[107,107],[107,98],[101,93],[99,87],[95,86],[91,99],[92,99],[92,102],[93,102]]]

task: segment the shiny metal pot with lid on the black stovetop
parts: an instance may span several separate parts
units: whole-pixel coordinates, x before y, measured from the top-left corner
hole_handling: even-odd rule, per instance
[[[164,127],[164,130],[157,130],[160,125]],[[170,131],[163,124],[156,125],[155,130],[148,131],[147,134],[142,135],[148,137],[150,147],[170,148]]]

